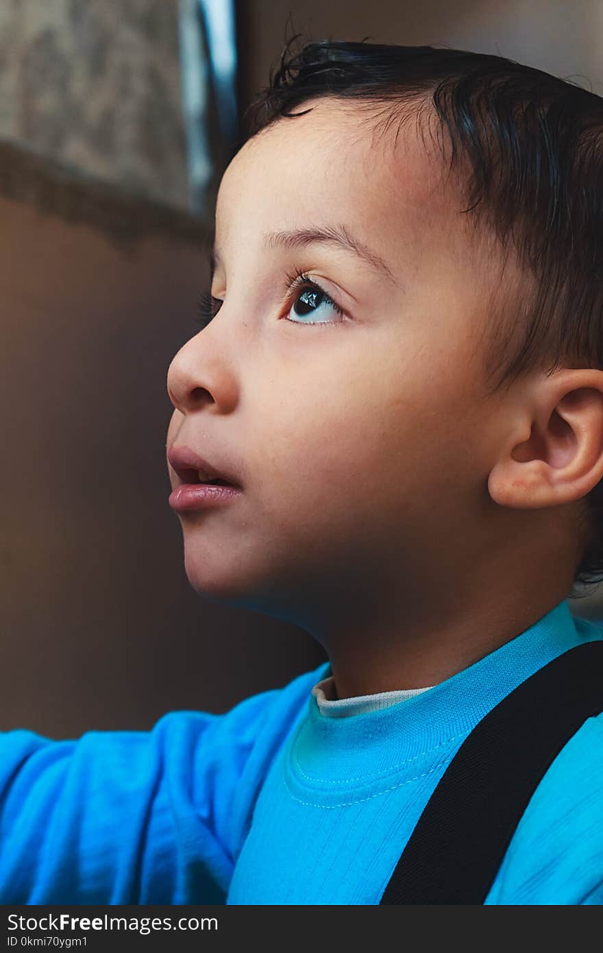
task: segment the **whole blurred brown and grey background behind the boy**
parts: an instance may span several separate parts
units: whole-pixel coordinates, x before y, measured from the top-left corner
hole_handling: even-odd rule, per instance
[[[603,94],[601,0],[0,0],[2,730],[148,729],[326,659],[195,596],[165,464],[217,187],[293,31],[494,52]],[[570,605],[603,618],[603,593]]]

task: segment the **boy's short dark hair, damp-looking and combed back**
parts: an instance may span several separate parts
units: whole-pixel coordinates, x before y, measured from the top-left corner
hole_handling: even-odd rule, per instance
[[[603,98],[502,56],[435,47],[287,41],[244,112],[249,137],[304,101],[384,106],[386,126],[435,120],[467,208],[511,245],[525,287],[492,307],[491,394],[535,368],[603,369]],[[411,110],[412,112],[412,110]],[[441,136],[441,137],[440,137]],[[493,305],[492,297],[492,305]],[[585,497],[570,598],[603,580],[603,480]]]

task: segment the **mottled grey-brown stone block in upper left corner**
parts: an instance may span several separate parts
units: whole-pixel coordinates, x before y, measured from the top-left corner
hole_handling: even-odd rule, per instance
[[[0,0],[0,138],[186,208],[177,0]]]

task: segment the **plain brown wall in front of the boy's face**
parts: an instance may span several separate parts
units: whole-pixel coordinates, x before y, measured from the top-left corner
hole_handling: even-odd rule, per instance
[[[206,256],[194,227],[141,206],[136,228],[145,215],[148,234],[120,245],[0,199],[2,730],[149,728],[323,659],[306,633],[204,603],[186,578],[166,372],[194,333]]]

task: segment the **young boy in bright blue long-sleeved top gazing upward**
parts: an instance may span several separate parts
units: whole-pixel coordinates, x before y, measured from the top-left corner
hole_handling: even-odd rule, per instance
[[[288,48],[171,362],[170,502],[194,589],[329,662],[150,733],[7,733],[5,903],[378,903],[472,729],[603,637],[567,602],[603,564],[601,99]],[[603,900],[602,740],[555,758],[486,903]]]

